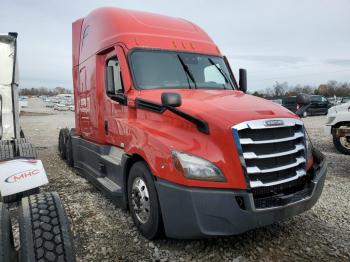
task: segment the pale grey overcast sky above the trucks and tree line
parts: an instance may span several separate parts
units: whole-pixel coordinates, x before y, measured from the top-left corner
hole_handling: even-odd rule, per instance
[[[248,70],[250,90],[350,81],[350,0],[1,0],[0,33],[19,33],[21,87],[71,88],[71,23],[102,6],[191,20]]]

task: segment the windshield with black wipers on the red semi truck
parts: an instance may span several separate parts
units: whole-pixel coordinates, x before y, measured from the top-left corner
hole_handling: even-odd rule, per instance
[[[158,50],[136,50],[130,56],[140,89],[234,89],[221,57]]]

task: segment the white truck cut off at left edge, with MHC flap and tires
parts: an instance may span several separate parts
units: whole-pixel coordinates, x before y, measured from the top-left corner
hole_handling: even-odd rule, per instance
[[[35,147],[19,126],[17,33],[0,35],[0,261],[75,262],[69,221],[48,183]],[[20,248],[13,241],[9,202],[19,202]],[[35,241],[33,241],[35,239]]]

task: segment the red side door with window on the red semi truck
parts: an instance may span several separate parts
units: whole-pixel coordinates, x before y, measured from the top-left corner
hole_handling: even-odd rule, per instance
[[[126,60],[122,47],[116,47],[105,57],[105,114],[106,142],[124,148],[127,136],[127,97],[125,95]]]

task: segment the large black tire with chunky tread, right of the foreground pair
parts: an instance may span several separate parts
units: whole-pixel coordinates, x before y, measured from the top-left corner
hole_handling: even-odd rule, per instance
[[[19,209],[21,262],[74,262],[69,222],[57,193],[22,199]]]

